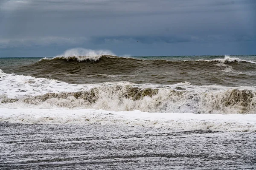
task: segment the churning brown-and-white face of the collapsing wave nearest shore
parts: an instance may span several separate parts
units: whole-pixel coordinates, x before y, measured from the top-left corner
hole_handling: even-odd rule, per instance
[[[94,108],[107,111],[256,114],[256,91],[239,89],[189,91],[180,87],[152,89],[133,85],[102,85],[87,91],[47,93],[20,99],[0,96],[0,102],[1,107],[8,108],[29,108],[33,105],[34,108]]]

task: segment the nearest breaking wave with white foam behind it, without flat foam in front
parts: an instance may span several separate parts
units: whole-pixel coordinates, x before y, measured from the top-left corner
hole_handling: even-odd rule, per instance
[[[256,114],[255,88],[136,85],[112,82],[73,85],[49,79],[0,72],[0,108],[69,108],[107,111]]]

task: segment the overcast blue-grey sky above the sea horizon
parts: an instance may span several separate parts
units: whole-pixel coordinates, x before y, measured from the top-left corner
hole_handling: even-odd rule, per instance
[[[0,0],[0,57],[78,47],[119,56],[256,54],[256,0]]]

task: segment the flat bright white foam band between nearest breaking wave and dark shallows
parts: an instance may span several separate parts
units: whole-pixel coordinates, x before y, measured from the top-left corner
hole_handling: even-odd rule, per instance
[[[256,115],[113,112],[94,109],[0,109],[0,121],[22,124],[128,125],[170,130],[256,132]]]

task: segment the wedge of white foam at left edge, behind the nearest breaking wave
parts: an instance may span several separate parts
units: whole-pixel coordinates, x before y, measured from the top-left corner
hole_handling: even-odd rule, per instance
[[[38,96],[46,93],[82,91],[96,85],[74,85],[53,79],[6,74],[0,69],[0,95],[10,98]]]

